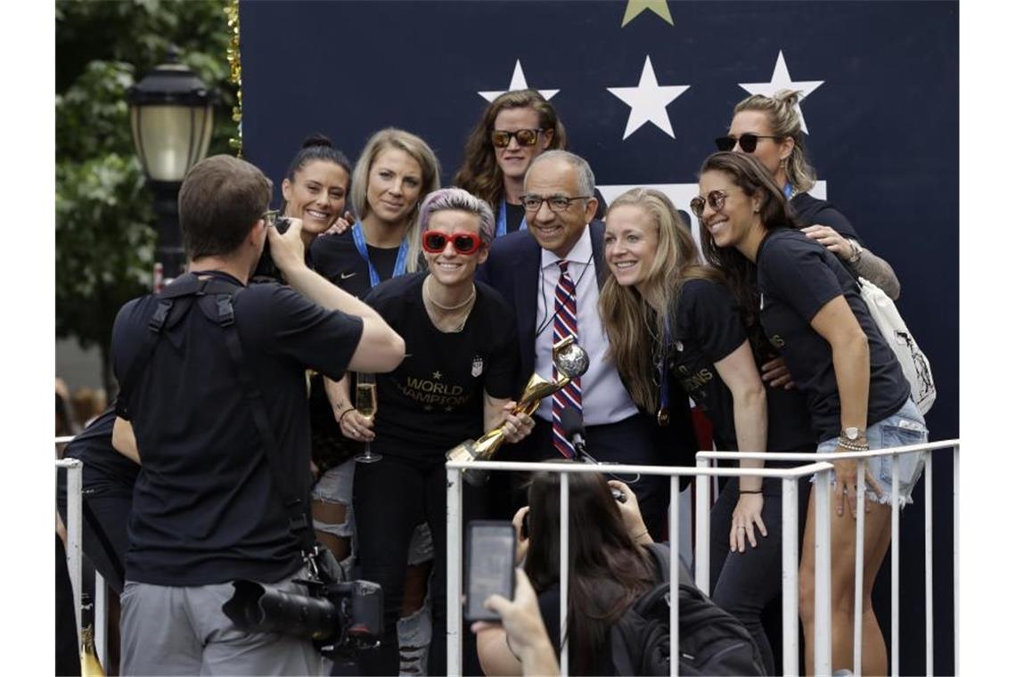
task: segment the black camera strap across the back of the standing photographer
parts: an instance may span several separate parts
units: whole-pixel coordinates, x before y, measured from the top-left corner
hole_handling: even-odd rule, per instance
[[[244,360],[243,346],[240,335],[237,333],[236,317],[233,312],[233,303],[236,297],[246,287],[229,282],[221,278],[208,277],[201,279],[193,273],[177,278],[172,284],[165,287],[158,294],[158,306],[148,321],[148,332],[146,332],[141,348],[137,356],[127,369],[124,381],[121,383],[121,391],[130,392],[131,387],[141,376],[145,365],[151,359],[155,351],[155,345],[166,328],[170,312],[174,302],[178,299],[185,299],[189,304],[200,300],[202,296],[214,296],[214,312],[210,304],[198,302],[198,308],[208,320],[221,327],[226,336],[226,347],[230,353],[230,361],[233,362],[234,370],[244,390],[244,396],[251,409],[254,418],[254,426],[257,428],[258,437],[261,441],[261,455],[268,462],[271,469],[272,480],[276,488],[282,495],[282,502],[285,506],[287,518],[289,519],[290,532],[297,536],[300,542],[300,549],[305,558],[312,556],[316,552],[314,532],[311,529],[308,505],[303,499],[297,484],[294,481],[293,473],[282,462],[275,432],[271,427],[268,418],[268,411],[264,404],[264,397],[254,382],[250,370]]]

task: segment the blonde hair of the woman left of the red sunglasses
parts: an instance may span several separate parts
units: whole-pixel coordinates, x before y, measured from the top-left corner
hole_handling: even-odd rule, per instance
[[[371,166],[381,151],[388,148],[405,152],[420,164],[420,171],[423,173],[423,185],[420,187],[421,200],[423,196],[441,188],[441,164],[427,142],[416,134],[401,129],[394,127],[382,129],[367,141],[367,145],[364,146],[364,150],[357,160],[357,165],[353,170],[350,202],[360,219],[363,219],[370,211],[370,205],[367,203],[367,185],[370,183]],[[419,207],[419,203],[414,206],[414,211],[408,216],[409,227],[405,232],[409,243],[405,270],[410,273],[417,272],[420,266],[420,222],[415,213]]]

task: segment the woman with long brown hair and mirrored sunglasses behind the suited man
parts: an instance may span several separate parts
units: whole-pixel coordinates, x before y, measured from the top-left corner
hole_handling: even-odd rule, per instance
[[[532,160],[548,150],[568,147],[558,112],[535,89],[506,91],[487,107],[465,142],[462,166],[452,185],[491,205],[495,238],[525,229],[522,181]],[[596,192],[604,215],[607,202]]]

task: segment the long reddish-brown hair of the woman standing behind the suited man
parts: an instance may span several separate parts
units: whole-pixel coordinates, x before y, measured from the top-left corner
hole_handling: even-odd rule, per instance
[[[504,175],[494,154],[491,132],[494,131],[494,121],[498,114],[508,109],[532,109],[536,112],[539,116],[541,129],[554,130],[548,150],[563,150],[568,147],[565,126],[558,118],[558,112],[535,89],[506,91],[491,101],[469,132],[462,166],[455,173],[451,185],[463,188],[478,198],[487,200],[493,209],[498,208],[501,198],[504,197],[505,186]]]

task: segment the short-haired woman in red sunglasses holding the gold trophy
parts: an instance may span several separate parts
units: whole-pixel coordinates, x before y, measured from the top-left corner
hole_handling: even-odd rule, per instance
[[[445,453],[502,424],[507,441],[518,442],[533,425],[510,413],[518,356],[512,309],[473,279],[494,238],[490,206],[461,189],[441,189],[421,204],[419,229],[427,270],[382,282],[366,298],[405,339],[405,359],[377,376],[373,417],[343,418],[347,435],[370,438],[383,456],[358,465],[354,483],[362,576],[381,585],[385,604],[384,637],[364,655],[363,674],[398,673],[395,623],[421,516],[435,553],[428,673],[445,673]],[[468,513],[482,496],[466,487],[464,498]]]

